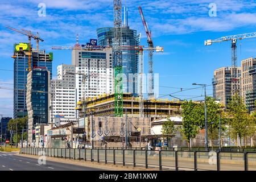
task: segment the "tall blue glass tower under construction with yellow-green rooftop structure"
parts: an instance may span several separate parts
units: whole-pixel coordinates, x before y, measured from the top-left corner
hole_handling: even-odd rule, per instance
[[[28,50],[28,43],[14,44],[14,118],[27,115]],[[46,67],[52,73],[52,53],[32,52],[31,68],[33,67]]]

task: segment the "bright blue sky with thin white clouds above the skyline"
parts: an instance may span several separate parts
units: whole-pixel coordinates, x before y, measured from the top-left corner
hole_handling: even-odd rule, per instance
[[[38,16],[38,4],[46,4],[46,17]],[[39,32],[44,39],[40,49],[73,46],[97,38],[96,28],[113,26],[113,0],[0,0],[0,86],[13,88],[13,44],[27,42],[27,37],[4,26]],[[210,3],[216,3],[217,16],[209,16]],[[155,46],[164,53],[154,55],[154,72],[159,73],[160,96],[193,88],[193,82],[211,84],[216,68],[231,64],[230,43],[205,47],[204,40],[226,35],[256,32],[256,1],[234,0],[123,0],[129,9],[129,26],[142,33],[141,45],[147,46],[138,6],[142,6]],[[35,43],[34,43],[35,44]],[[256,38],[237,43],[238,65],[256,55]],[[71,64],[71,51],[53,52],[53,75],[61,63]],[[147,72],[147,56],[144,56]],[[6,69],[9,71],[3,71]],[[173,88],[171,88],[173,87]],[[201,100],[203,90],[175,93],[180,98]],[[212,94],[208,86],[207,94]],[[170,98],[170,97],[163,97]],[[0,89],[0,114],[13,117],[13,90]]]

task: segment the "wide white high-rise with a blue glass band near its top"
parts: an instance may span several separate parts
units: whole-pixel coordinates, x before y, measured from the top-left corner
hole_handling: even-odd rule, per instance
[[[73,49],[72,65],[76,67],[76,100],[114,92],[112,48]]]

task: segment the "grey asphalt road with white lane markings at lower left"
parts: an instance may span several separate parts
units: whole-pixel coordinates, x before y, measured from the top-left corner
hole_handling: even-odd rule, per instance
[[[14,152],[0,152],[0,171],[101,171],[102,169],[58,163],[46,160],[38,164],[38,159],[14,155]]]

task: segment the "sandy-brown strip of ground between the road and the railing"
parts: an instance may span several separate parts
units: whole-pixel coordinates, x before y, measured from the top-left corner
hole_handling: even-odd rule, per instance
[[[39,156],[35,155],[27,155],[27,154],[14,154],[14,155],[19,155],[19,156],[24,156],[27,158],[34,158],[38,159]],[[90,162],[89,161],[84,161],[84,159],[81,160],[74,160],[74,159],[64,159],[64,158],[53,158],[53,157],[48,157],[46,156],[46,160],[50,160],[53,162],[59,162],[59,163],[68,163],[68,164],[75,164],[78,166],[88,166],[88,167],[94,167],[94,168],[99,168],[99,169],[105,169],[105,170],[110,170],[110,171],[158,171],[159,168],[142,168],[142,167],[132,167],[132,166],[122,166],[122,164],[105,164],[104,162],[98,163],[96,162]],[[47,163],[47,162],[46,162]]]

